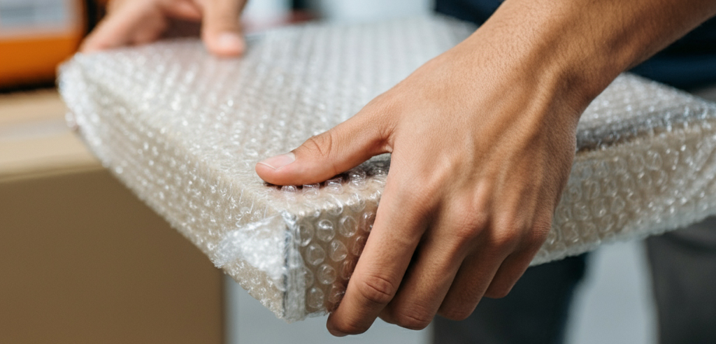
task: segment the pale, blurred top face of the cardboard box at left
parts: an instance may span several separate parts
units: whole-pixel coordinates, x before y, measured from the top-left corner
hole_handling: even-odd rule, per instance
[[[0,95],[0,182],[102,168],[66,113],[54,89]]]

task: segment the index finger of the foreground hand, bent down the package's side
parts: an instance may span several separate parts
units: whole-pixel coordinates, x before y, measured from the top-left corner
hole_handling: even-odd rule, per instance
[[[364,333],[400,286],[420,237],[425,231],[425,212],[416,204],[412,188],[401,188],[388,175],[384,194],[363,253],[339,307],[328,317],[332,335]],[[405,180],[405,178],[402,178]]]

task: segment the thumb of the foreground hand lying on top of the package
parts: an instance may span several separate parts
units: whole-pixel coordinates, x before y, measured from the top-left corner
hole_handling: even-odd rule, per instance
[[[353,118],[309,138],[299,148],[256,164],[256,173],[276,185],[320,183],[372,156],[390,152],[388,130],[367,115]]]

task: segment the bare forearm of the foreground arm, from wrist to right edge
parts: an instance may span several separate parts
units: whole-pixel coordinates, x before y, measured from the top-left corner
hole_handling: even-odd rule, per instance
[[[620,72],[714,14],[712,0],[506,0],[461,45],[490,47],[505,69],[551,94],[576,95],[574,106],[584,107]]]

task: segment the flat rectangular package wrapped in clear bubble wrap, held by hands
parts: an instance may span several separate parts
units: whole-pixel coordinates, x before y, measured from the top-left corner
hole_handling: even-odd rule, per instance
[[[309,24],[250,37],[242,59],[160,42],[78,54],[59,85],[69,124],[117,178],[277,316],[301,320],[342,297],[390,157],[304,186],[269,186],[254,165],[474,29],[442,17]],[[586,109],[577,145],[533,264],[716,214],[714,104],[622,75]]]

